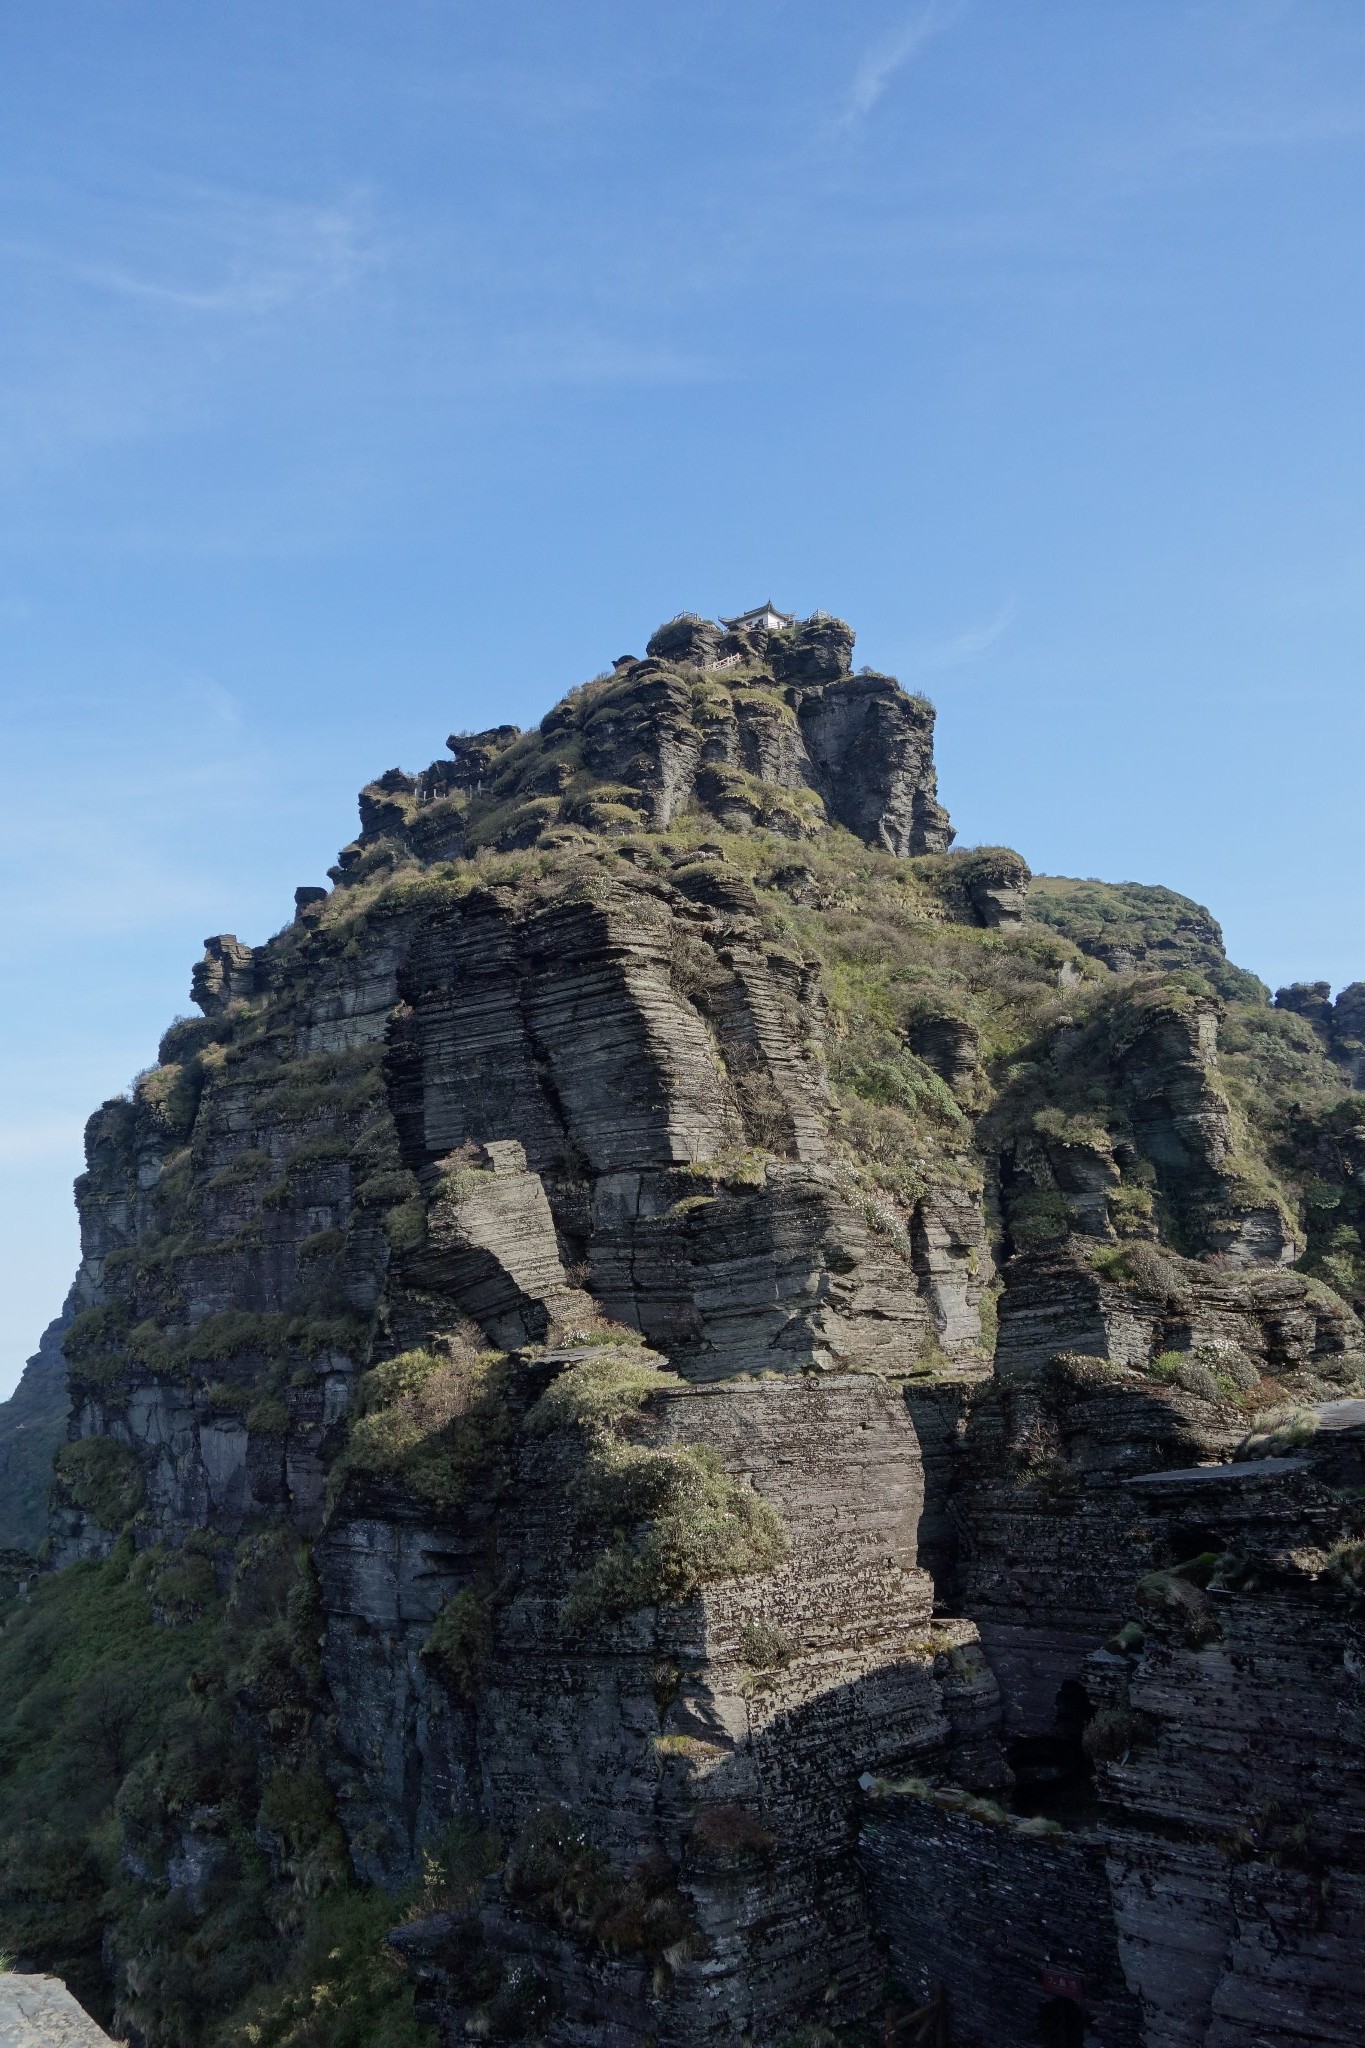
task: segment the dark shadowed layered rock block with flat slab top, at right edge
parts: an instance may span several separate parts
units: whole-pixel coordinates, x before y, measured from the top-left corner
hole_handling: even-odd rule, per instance
[[[1150,2048],[1359,2030],[1363,1552],[1342,1489],[1363,1475],[1365,1403],[1345,1401],[1295,1456],[1130,1481],[1185,1536],[1171,1548],[1207,1544],[1138,1583],[1140,1649],[1091,1659],[1113,1917]]]

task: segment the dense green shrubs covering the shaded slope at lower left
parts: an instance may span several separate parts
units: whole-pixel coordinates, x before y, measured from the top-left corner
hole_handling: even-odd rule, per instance
[[[293,1532],[237,1544],[227,1606],[203,1544],[123,1538],[4,1618],[0,1946],[104,2025],[113,1964],[145,2048],[434,2048],[307,1739],[313,1599]],[[186,1827],[219,1855],[199,1915],[164,1890]]]

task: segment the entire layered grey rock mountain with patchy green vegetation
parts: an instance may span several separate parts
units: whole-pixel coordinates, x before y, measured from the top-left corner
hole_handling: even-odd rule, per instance
[[[1357,2038],[1357,991],[851,645],[389,770],[90,1120],[0,1919],[149,2048]]]

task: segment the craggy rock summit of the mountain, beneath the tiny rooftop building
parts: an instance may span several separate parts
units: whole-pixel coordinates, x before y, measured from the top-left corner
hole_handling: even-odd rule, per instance
[[[698,809],[741,831],[800,840],[835,823],[896,854],[943,850],[933,707],[890,676],[853,676],[851,647],[825,614],[741,637],[681,614],[643,662],[622,657],[536,733],[452,733],[454,762],[379,776],[334,881],[381,844],[442,860],[553,829],[661,831]]]

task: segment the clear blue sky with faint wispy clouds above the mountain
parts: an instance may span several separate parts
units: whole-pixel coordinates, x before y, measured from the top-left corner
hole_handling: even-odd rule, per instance
[[[1365,977],[1359,0],[55,0],[0,137],[0,1391],[203,936],[679,608]]]

